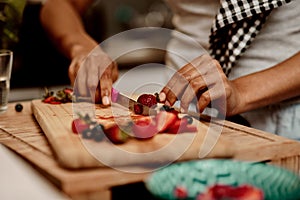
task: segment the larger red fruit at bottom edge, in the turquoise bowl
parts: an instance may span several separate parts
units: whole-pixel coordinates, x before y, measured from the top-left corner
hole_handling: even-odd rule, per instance
[[[229,185],[213,185],[208,190],[199,194],[197,200],[263,200],[262,190],[251,185],[237,187]]]

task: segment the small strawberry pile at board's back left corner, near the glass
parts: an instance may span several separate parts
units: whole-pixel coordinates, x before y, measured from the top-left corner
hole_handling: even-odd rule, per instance
[[[56,93],[49,91],[45,88],[45,95],[43,96],[43,102],[49,104],[61,104],[73,101],[73,89],[65,88],[58,90]]]

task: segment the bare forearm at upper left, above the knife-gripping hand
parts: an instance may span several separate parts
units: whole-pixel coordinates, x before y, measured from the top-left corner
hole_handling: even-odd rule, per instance
[[[82,48],[92,50],[97,46],[86,33],[80,16],[91,2],[48,0],[41,9],[42,26],[58,49],[70,59]]]

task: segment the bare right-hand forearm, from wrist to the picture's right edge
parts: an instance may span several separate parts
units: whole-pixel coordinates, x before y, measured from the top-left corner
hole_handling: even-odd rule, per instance
[[[235,85],[240,103],[232,114],[239,114],[300,95],[300,52],[267,70],[240,77]]]

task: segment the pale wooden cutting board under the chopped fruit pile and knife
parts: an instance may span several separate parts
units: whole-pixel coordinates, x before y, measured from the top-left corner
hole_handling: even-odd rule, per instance
[[[149,140],[130,139],[125,144],[115,145],[105,140],[96,142],[83,139],[72,132],[71,123],[77,117],[78,108],[89,111],[92,108],[97,119],[104,125],[114,123],[128,116],[128,110],[122,106],[101,108],[87,103],[53,105],[43,103],[40,99],[33,100],[31,105],[59,164],[66,168],[150,164],[160,166],[200,157],[233,156],[232,145],[225,138],[219,138],[213,127],[199,121],[195,122],[197,133],[158,134]]]

